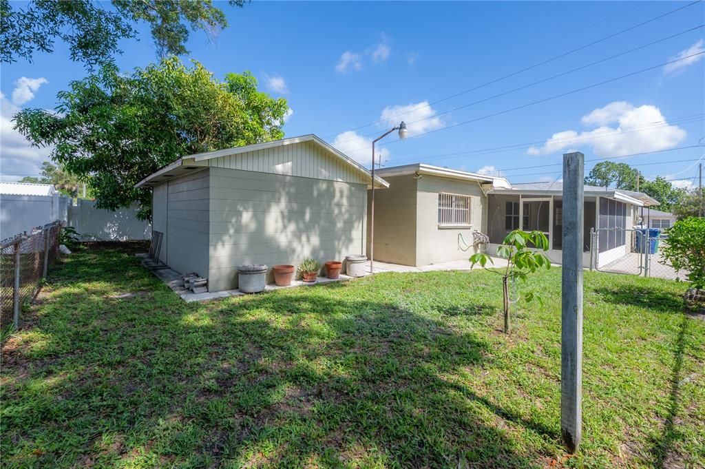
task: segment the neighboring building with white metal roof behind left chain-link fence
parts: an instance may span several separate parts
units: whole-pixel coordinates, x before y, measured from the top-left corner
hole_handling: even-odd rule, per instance
[[[0,238],[66,220],[67,200],[51,184],[0,183]]]

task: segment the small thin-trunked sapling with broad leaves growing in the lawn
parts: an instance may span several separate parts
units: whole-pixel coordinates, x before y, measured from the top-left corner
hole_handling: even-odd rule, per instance
[[[527,281],[527,276],[533,274],[538,269],[551,268],[551,261],[548,257],[536,250],[548,250],[548,238],[541,231],[514,230],[504,238],[502,245],[497,248],[497,255],[507,260],[507,267],[500,270],[488,269],[487,262],[494,264],[489,255],[484,252],[477,252],[470,256],[470,267],[480,264],[483,269],[500,274],[502,276],[502,292],[504,297],[504,331],[509,334],[511,322],[509,316],[509,281]],[[525,300],[531,301],[537,295],[529,291],[525,294]]]

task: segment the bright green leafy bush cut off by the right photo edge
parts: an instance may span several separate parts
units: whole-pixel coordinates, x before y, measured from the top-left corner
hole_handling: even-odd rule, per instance
[[[705,218],[689,217],[676,221],[666,234],[664,263],[689,272],[687,278],[694,288],[705,288]]]

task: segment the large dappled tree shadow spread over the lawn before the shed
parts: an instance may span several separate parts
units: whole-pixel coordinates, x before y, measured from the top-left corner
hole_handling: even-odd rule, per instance
[[[533,468],[544,455],[510,435],[558,439],[448,381],[482,370],[486,341],[354,282],[202,305],[165,291],[116,300],[104,296],[154,279],[99,252],[67,266],[71,288],[42,307],[37,330],[54,345],[5,371],[8,463]],[[73,288],[89,281],[104,289]]]

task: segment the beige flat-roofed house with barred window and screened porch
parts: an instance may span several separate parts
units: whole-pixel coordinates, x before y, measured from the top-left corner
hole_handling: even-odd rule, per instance
[[[496,255],[505,236],[521,227],[546,233],[547,256],[561,262],[560,182],[511,184],[427,164],[385,168],[379,175],[390,186],[375,197],[375,260],[422,266],[466,260],[479,249]],[[637,210],[657,203],[642,193],[586,185],[584,265],[591,262],[591,229],[602,235],[596,262],[611,262],[630,251],[625,230],[636,224]]]

